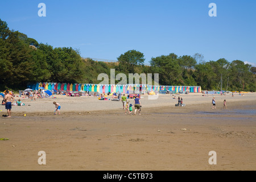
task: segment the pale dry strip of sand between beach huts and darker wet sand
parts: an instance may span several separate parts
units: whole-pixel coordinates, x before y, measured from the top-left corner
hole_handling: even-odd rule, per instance
[[[190,95],[179,95],[183,97],[184,107],[176,107],[176,99],[172,99],[172,95],[160,95],[157,100],[148,100],[148,96],[142,96],[142,113],[144,111],[150,112],[150,110],[170,110],[179,109],[189,110],[201,108],[200,110],[212,111],[211,101],[213,96],[201,96],[201,94],[190,94]],[[67,97],[67,96],[56,96],[57,98],[44,98],[36,99],[36,101],[31,101],[30,99],[21,98],[21,101],[25,103],[25,106],[12,106],[12,115],[30,115],[33,113],[38,113],[40,115],[51,115],[55,110],[55,106],[52,104],[53,101],[60,103],[61,114],[90,114],[90,113],[108,113],[119,111],[122,109],[121,101],[100,101],[97,97]],[[256,94],[249,93],[245,96],[235,96],[232,97],[231,94],[227,96],[215,96],[216,97],[216,110],[223,109],[223,100],[227,101],[228,110],[229,109],[239,109],[246,105],[254,105],[256,103]],[[110,98],[110,97],[108,97]],[[17,100],[18,98],[15,98]],[[129,103],[133,104],[133,99],[129,99]],[[203,107],[201,107],[203,105]],[[0,113],[5,114],[5,106],[0,105]],[[134,110],[134,108],[133,108]],[[134,112],[134,111],[133,111]]]

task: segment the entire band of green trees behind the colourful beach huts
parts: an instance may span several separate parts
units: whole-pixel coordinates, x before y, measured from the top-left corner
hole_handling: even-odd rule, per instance
[[[150,66],[144,65],[143,53],[130,50],[118,58],[117,63],[105,63],[82,59],[73,48],[53,48],[38,43],[18,31],[9,30],[0,19],[0,90],[25,89],[30,82],[94,83],[100,73],[110,78],[110,69],[115,75],[125,73],[159,73],[159,85],[199,85],[203,90],[256,90],[255,67],[226,59],[204,61],[203,55],[152,57]],[[119,82],[115,81],[116,84]],[[127,80],[127,83],[129,81]]]

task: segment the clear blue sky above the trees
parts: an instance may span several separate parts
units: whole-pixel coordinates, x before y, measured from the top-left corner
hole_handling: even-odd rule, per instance
[[[38,16],[39,3],[46,17]],[[217,16],[210,17],[210,3]],[[201,53],[256,66],[255,0],[2,1],[0,19],[39,43],[72,47],[82,57],[117,60],[136,49],[151,57]]]

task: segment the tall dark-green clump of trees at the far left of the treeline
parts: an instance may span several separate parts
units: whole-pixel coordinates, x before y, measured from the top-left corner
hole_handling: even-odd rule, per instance
[[[28,82],[83,81],[84,62],[72,48],[53,48],[18,31],[0,19],[0,89],[26,88]]]

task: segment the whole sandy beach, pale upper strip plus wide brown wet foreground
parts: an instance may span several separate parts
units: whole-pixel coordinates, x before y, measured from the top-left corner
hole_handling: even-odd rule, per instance
[[[0,140],[0,170],[256,169],[255,93],[216,95],[217,109],[212,95],[180,96],[185,107],[175,107],[172,95],[144,96],[141,115],[96,97],[23,98],[26,106],[0,118],[0,138],[9,138]],[[53,115],[53,101],[61,115]],[[0,110],[6,114],[4,106]],[[46,152],[46,165],[38,164],[39,151]],[[208,162],[210,151],[216,151],[216,165]]]

